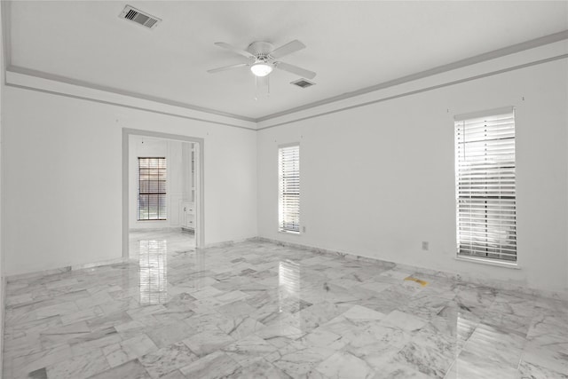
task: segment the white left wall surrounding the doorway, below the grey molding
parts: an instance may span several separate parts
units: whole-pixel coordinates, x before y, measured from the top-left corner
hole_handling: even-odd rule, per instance
[[[5,89],[6,273],[122,257],[122,128],[204,138],[205,243],[256,236],[256,134]]]

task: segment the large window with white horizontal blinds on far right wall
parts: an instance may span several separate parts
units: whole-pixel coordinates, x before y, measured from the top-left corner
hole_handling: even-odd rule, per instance
[[[515,114],[456,117],[459,257],[517,262]]]

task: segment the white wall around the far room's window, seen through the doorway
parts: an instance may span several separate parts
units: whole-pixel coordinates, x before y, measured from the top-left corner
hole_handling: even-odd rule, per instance
[[[182,154],[182,146],[188,142],[167,139],[130,136],[129,138],[129,215],[130,229],[181,227],[179,208],[181,201],[189,200],[191,193],[185,186],[190,157]],[[138,157],[166,158],[166,219],[138,221]]]

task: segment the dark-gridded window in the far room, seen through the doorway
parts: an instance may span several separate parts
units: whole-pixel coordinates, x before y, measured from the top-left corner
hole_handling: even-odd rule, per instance
[[[138,158],[138,221],[166,219],[166,158]]]

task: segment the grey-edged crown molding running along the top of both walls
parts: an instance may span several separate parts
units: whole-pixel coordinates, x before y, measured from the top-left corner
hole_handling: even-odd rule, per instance
[[[366,105],[369,104],[373,104],[375,102],[379,102],[379,101],[385,101],[386,99],[395,99],[401,96],[408,96],[410,94],[413,93],[418,93],[418,92],[422,92],[422,91],[430,91],[432,89],[435,88],[439,88],[439,87],[443,87],[446,85],[452,85],[452,83],[461,83],[461,82],[467,82],[469,80],[474,80],[476,78],[479,77],[485,77],[485,76],[489,76],[489,75],[496,75],[496,73],[500,73],[500,72],[505,72],[505,71],[510,71],[510,70],[514,70],[514,69],[518,69],[521,67],[526,67],[527,64],[525,65],[518,65],[515,67],[509,67],[509,69],[507,70],[497,70],[491,73],[487,73],[485,75],[473,75],[470,77],[467,77],[465,79],[461,79],[458,81],[451,81],[451,82],[446,82],[443,84],[439,84],[439,85],[434,85],[434,86],[427,86],[427,87],[422,87],[422,89],[420,90],[416,90],[416,91],[407,91],[406,94],[398,94],[396,96],[390,96],[390,97],[386,97],[386,98],[382,98],[382,99],[375,99],[372,101],[366,101],[366,100],[361,100],[358,101],[357,104],[355,105],[351,105],[348,107],[344,107],[341,106],[341,103],[344,102],[344,100],[347,99],[351,99],[351,100],[356,100],[356,99],[352,99],[352,98],[357,98],[357,97],[361,97],[359,99],[365,98],[362,95],[366,95],[366,94],[371,94],[372,92],[376,92],[376,91],[381,91],[381,90],[385,90],[385,89],[389,89],[391,87],[395,87],[398,86],[400,84],[405,84],[405,83],[411,83],[411,82],[415,82],[415,81],[419,81],[421,79],[424,78],[428,78],[430,76],[433,75],[440,75],[440,74],[444,74],[450,71],[453,71],[455,69],[458,68],[462,68],[462,67],[468,67],[468,66],[472,66],[478,63],[482,63],[485,61],[489,61],[492,59],[498,59],[501,57],[505,57],[507,55],[510,54],[514,54],[514,53],[518,53],[521,51],[527,51],[530,49],[534,49],[534,48],[538,48],[540,46],[544,46],[550,43],[557,43],[560,41],[564,41],[566,39],[568,39],[568,30],[563,30],[548,36],[541,36],[539,38],[535,38],[529,41],[525,41],[523,43],[517,43],[505,48],[501,48],[501,49],[497,49],[494,51],[488,51],[485,52],[483,54],[479,54],[473,57],[469,57],[467,59],[461,59],[461,60],[457,60],[455,62],[446,64],[446,65],[442,65],[442,66],[438,66],[438,67],[433,67],[430,68],[428,70],[424,70],[412,75],[406,75],[406,76],[402,76],[387,82],[383,82],[383,83],[377,83],[375,85],[369,86],[369,87],[365,87],[365,88],[361,88],[357,91],[351,91],[351,92],[346,92],[331,98],[327,98],[327,99],[321,99],[319,101],[315,101],[309,104],[305,104],[304,106],[301,107],[293,107],[293,108],[289,108],[280,112],[276,112],[273,114],[266,114],[262,117],[248,117],[246,115],[242,115],[242,114],[231,114],[231,113],[226,113],[217,109],[212,109],[212,108],[208,108],[208,107],[198,107],[192,104],[188,104],[188,103],[184,103],[184,102],[180,102],[180,101],[175,101],[175,100],[170,100],[170,99],[162,99],[159,97],[154,97],[151,95],[146,95],[146,94],[142,94],[142,93],[138,93],[138,92],[134,92],[134,91],[125,91],[125,90],[120,90],[117,88],[113,88],[113,87],[109,87],[109,86],[105,86],[105,85],[99,85],[96,83],[89,83],[89,82],[84,82],[81,80],[76,80],[73,78],[69,78],[66,76],[62,76],[62,75],[53,75],[50,73],[46,73],[43,71],[39,71],[39,70],[35,70],[35,69],[31,69],[31,68],[27,68],[27,67],[18,67],[18,66],[13,66],[12,65],[12,43],[11,43],[11,36],[10,36],[10,31],[11,31],[11,27],[10,27],[10,23],[11,23],[11,18],[10,18],[10,3],[9,1],[2,1],[1,2],[1,6],[2,6],[2,33],[3,33],[3,45],[4,45],[4,77],[5,77],[5,84],[8,86],[12,86],[12,87],[17,87],[17,88],[21,88],[21,89],[27,89],[27,90],[36,90],[36,91],[43,91],[45,93],[52,93],[52,94],[59,94],[62,96],[67,96],[67,97],[72,97],[75,99],[85,99],[85,100],[91,100],[91,101],[97,101],[99,103],[103,103],[103,104],[113,104],[116,106],[120,106],[120,107],[130,107],[130,108],[134,108],[134,109],[140,109],[140,110],[146,110],[149,112],[155,112],[155,113],[160,113],[160,114],[169,114],[169,115],[173,115],[173,116],[179,116],[179,117],[184,117],[187,119],[192,119],[192,120],[199,120],[199,121],[203,121],[203,122],[213,122],[213,123],[217,123],[217,124],[222,124],[222,125],[227,125],[227,126],[233,126],[233,127],[237,127],[237,128],[242,128],[242,129],[247,129],[247,130],[264,130],[267,128],[272,128],[275,126],[279,126],[279,125],[284,125],[290,122],[295,122],[295,121],[301,121],[301,120],[305,120],[306,118],[312,118],[314,116],[317,115],[323,115],[323,114],[331,114],[331,113],[335,113],[335,112],[341,112],[343,110],[348,110],[351,109],[353,107],[364,107]],[[556,56],[554,58],[551,59],[560,59],[558,57],[564,58],[564,56]],[[535,63],[529,63],[528,65],[533,65],[533,64],[540,64],[540,63],[544,63],[545,61],[549,61],[550,59],[541,59]],[[46,88],[36,88],[34,85],[28,85],[28,84],[22,84],[22,83],[9,83],[9,79],[8,79],[8,73],[14,73],[14,74],[20,74],[20,75],[27,75],[30,77],[35,77],[37,79],[43,79],[46,81],[51,81],[51,82],[56,82],[56,83],[65,83],[68,84],[69,86],[76,86],[76,87],[82,87],[84,89],[90,89],[93,91],[102,91],[102,92],[106,92],[108,94],[111,95],[119,95],[119,97],[127,97],[130,99],[139,99],[139,100],[143,100],[141,103],[146,103],[146,102],[151,102],[153,103],[153,105],[162,105],[162,106],[166,106],[169,110],[164,111],[164,110],[156,110],[155,107],[138,107],[137,105],[132,105],[132,104],[125,104],[124,101],[116,101],[116,100],[106,100],[106,99],[95,99],[91,96],[86,96],[86,95],[76,95],[73,93],[69,93],[69,91],[64,92],[64,91],[57,91],[57,90],[50,90],[50,89],[46,89]],[[99,96],[100,98],[100,96]],[[317,112],[318,107],[322,107],[322,106],[326,106],[326,105],[330,105],[333,103],[337,103],[338,108],[333,109],[333,110],[327,110],[327,111],[320,111]],[[325,108],[325,107],[324,107]],[[317,114],[316,115],[309,115],[309,116],[305,116],[303,114],[305,114],[304,111],[307,110],[313,110],[316,111]],[[189,114],[188,115],[188,112]],[[198,114],[197,116],[195,116],[194,114]],[[293,120],[289,120],[287,119],[287,115],[294,115],[296,114],[297,117],[292,117]],[[209,117],[212,116],[212,117]],[[217,116],[217,117],[216,117]],[[218,117],[221,117],[222,121],[218,121]],[[278,118],[283,117],[283,121],[279,122]],[[274,123],[270,124],[271,122],[267,122],[272,120]],[[234,121],[234,122],[233,122]]]

